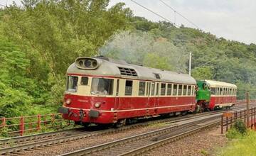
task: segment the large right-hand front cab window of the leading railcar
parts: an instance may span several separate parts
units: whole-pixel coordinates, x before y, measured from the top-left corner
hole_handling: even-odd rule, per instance
[[[113,79],[92,78],[91,94],[112,95]]]

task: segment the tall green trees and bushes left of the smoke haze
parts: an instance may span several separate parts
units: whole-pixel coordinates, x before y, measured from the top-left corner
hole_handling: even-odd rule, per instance
[[[0,117],[56,111],[75,58],[97,55],[114,32],[131,26],[132,12],[108,3],[23,0],[0,11]]]

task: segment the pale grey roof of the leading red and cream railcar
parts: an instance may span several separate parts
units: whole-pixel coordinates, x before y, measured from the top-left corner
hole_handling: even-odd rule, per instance
[[[99,65],[95,69],[85,69],[80,67],[77,62],[82,59],[97,60]],[[178,84],[196,84],[196,79],[188,74],[132,65],[123,60],[113,60],[107,57],[78,57],[77,60],[68,67],[67,74],[85,74],[102,77],[173,82]]]

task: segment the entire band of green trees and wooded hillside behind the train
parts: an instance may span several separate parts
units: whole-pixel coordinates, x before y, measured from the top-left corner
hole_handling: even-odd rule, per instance
[[[134,64],[256,86],[256,45],[193,28],[135,17],[109,1],[23,0],[0,10],[0,117],[55,112],[65,71],[79,56],[105,55]],[[252,98],[254,98],[252,94]]]

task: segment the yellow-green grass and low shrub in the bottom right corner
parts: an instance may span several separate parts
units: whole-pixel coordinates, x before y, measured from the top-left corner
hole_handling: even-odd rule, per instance
[[[256,155],[256,132],[248,130],[242,135],[235,128],[227,133],[230,143],[220,149],[218,155],[221,156],[254,156]]]

